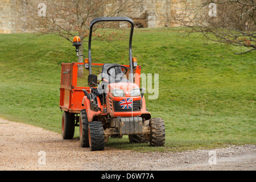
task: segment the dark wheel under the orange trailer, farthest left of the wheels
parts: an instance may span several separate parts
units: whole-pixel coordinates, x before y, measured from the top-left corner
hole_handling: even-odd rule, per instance
[[[75,133],[75,115],[63,112],[61,122],[61,135],[63,139],[73,139]]]

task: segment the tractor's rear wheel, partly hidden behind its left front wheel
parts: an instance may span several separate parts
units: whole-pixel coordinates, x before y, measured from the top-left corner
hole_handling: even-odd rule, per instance
[[[81,147],[89,147],[88,118],[85,109],[80,111],[79,131]]]

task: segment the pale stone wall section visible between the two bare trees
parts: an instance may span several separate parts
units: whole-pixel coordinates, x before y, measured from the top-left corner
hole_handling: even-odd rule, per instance
[[[144,0],[141,5],[135,7],[122,16],[129,16],[137,27],[176,27],[170,23],[170,19],[176,15],[184,15],[186,10],[195,9],[201,0]],[[105,15],[108,9],[105,9]]]

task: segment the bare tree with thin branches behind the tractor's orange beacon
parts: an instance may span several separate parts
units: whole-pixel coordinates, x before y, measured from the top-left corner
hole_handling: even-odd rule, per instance
[[[27,1],[27,0],[23,0]],[[42,1],[40,1],[42,2]],[[45,1],[45,16],[38,16],[39,1],[27,2],[26,27],[40,32],[55,32],[56,35],[73,41],[77,34],[82,46],[89,36],[89,23],[99,16],[125,16],[131,9],[141,5],[141,0],[56,0]],[[97,28],[97,27],[96,27]],[[107,36],[105,36],[107,37]],[[80,57],[79,62],[82,62]]]

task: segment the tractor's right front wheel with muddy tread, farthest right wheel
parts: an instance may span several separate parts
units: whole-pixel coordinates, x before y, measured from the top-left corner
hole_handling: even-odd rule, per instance
[[[166,140],[166,131],[162,118],[151,118],[151,139],[150,146],[164,146]]]

